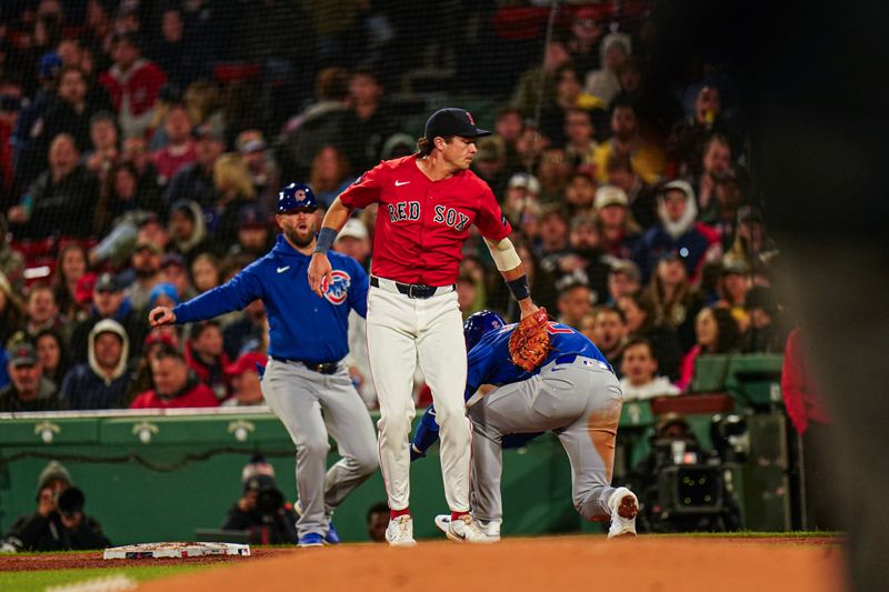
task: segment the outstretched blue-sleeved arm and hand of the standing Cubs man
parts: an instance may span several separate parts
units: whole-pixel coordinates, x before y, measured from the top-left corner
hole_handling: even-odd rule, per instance
[[[262,281],[259,278],[262,261],[249,265],[222,285],[194,297],[174,309],[167,307],[152,309],[148,313],[151,327],[212,319],[227,312],[241,310],[253,300],[262,298]]]

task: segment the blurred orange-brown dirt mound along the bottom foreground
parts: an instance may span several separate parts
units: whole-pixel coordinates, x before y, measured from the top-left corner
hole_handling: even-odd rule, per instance
[[[108,562],[107,562],[108,563]],[[560,536],[493,545],[420,542],[272,550],[219,569],[147,582],[140,591],[781,591],[837,592],[842,549],[835,539],[606,541]],[[58,565],[57,565],[58,568]]]

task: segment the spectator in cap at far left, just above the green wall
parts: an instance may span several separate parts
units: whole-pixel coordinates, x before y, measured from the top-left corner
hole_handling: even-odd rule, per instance
[[[30,343],[22,342],[10,350],[7,372],[11,382],[0,389],[0,412],[64,409],[56,385],[43,377],[43,367]]]

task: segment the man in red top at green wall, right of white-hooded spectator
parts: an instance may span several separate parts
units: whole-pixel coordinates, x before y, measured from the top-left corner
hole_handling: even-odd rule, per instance
[[[189,370],[186,359],[172,348],[161,348],[151,361],[154,389],[140,393],[130,409],[219,407],[209,387]]]

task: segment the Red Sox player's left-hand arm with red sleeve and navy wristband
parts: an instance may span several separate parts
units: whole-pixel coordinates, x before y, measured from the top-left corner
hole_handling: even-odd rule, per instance
[[[327,278],[328,284],[333,283],[332,268],[327,252],[357,208],[367,208],[379,201],[381,183],[387,171],[386,162],[373,167],[340,193],[328,208],[321,221],[321,230],[318,232],[318,243],[314,245],[312,260],[309,262],[309,288],[320,298],[324,295],[321,291],[321,281]]]

